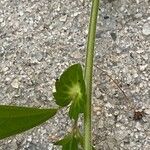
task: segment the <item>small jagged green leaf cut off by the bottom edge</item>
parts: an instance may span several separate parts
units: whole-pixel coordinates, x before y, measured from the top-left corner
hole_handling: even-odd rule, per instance
[[[55,145],[61,145],[62,150],[78,150],[78,141],[73,134],[69,134],[64,139],[55,143]]]

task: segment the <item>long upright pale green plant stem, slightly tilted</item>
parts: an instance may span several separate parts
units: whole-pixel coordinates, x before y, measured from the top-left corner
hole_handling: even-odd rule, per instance
[[[99,0],[92,0],[92,9],[89,24],[89,33],[87,41],[86,65],[85,65],[85,84],[87,93],[87,102],[84,112],[84,150],[92,149],[91,139],[91,104],[92,104],[92,74],[93,74],[93,57],[96,34],[96,23],[99,8]]]

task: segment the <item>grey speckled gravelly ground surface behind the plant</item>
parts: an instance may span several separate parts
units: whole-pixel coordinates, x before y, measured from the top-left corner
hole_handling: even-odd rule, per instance
[[[90,8],[83,0],[0,1],[1,104],[55,105],[55,79],[69,64],[84,63]],[[149,0],[102,0],[94,66],[96,150],[149,150]],[[146,114],[136,118],[134,111],[142,110]],[[42,126],[1,140],[0,150],[58,150],[51,141],[63,137],[69,124],[63,110]]]

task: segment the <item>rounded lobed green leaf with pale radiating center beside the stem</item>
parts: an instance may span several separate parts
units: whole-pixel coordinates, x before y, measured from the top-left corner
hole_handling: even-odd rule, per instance
[[[53,93],[59,106],[71,104],[69,116],[77,120],[79,113],[84,112],[86,101],[85,82],[80,64],[74,64],[66,69],[55,83],[56,92]]]

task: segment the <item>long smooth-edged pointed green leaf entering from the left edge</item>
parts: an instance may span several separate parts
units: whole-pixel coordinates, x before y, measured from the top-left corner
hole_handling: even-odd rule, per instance
[[[0,139],[31,129],[53,117],[57,109],[0,105]]]

